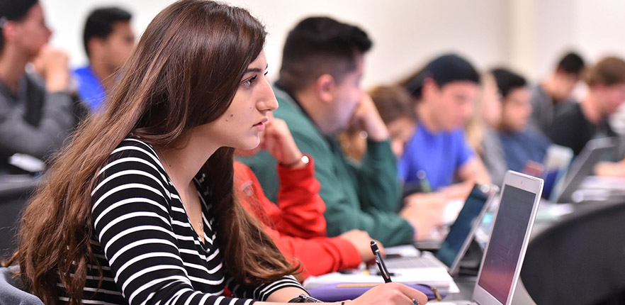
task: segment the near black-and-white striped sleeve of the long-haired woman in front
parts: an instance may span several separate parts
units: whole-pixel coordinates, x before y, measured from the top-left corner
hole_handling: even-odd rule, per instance
[[[150,146],[120,145],[98,175],[91,194],[95,237],[128,304],[254,302],[193,289],[172,228],[168,180]]]

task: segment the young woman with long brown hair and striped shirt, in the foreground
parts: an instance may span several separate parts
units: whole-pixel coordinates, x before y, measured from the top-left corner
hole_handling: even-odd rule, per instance
[[[258,145],[278,106],[265,35],[247,11],[212,1],[154,18],[105,111],[26,209],[17,257],[30,292],[45,304],[251,304],[304,292],[232,191],[233,148]],[[426,301],[392,284],[351,302],[413,299]]]

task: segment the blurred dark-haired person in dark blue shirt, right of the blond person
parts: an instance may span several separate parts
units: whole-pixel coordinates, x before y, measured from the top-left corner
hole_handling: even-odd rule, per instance
[[[541,163],[551,141],[528,126],[531,116],[527,81],[510,70],[491,71],[501,92],[502,114],[499,135],[508,170],[522,172],[528,161]]]

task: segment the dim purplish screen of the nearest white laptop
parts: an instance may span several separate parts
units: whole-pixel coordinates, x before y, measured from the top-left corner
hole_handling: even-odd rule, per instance
[[[536,194],[505,185],[478,285],[506,304]]]

